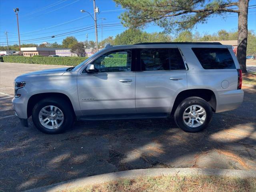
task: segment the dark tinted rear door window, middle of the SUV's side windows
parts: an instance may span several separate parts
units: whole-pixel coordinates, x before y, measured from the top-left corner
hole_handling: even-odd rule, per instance
[[[172,49],[141,49],[140,63],[142,71],[184,70],[180,52]]]

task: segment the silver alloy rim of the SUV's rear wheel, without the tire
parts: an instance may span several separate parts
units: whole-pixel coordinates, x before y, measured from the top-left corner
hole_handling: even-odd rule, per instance
[[[204,124],[206,120],[206,111],[200,105],[191,105],[183,113],[184,123],[191,127],[196,128]]]

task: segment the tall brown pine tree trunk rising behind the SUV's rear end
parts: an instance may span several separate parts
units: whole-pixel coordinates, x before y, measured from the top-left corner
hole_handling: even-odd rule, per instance
[[[237,60],[240,64],[240,68],[243,73],[247,73],[246,70],[246,47],[247,47],[247,35],[248,35],[248,3],[249,0],[239,0],[239,13],[238,13],[238,47],[237,47]]]

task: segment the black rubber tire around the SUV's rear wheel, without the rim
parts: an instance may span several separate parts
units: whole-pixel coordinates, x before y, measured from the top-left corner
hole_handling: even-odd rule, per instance
[[[206,118],[204,120],[204,123],[202,125],[200,125],[198,127],[194,127],[194,128],[186,125],[183,120],[183,113],[185,112],[185,110],[187,108],[189,108],[192,105],[202,106],[206,112]],[[211,119],[212,119],[212,108],[208,104],[208,102],[206,102],[206,100],[204,100],[200,97],[188,97],[188,98],[184,99],[182,102],[180,102],[180,104],[178,105],[178,107],[174,113],[175,123],[177,124],[177,126],[179,128],[181,128],[185,132],[192,132],[192,133],[200,132],[208,126]],[[189,118],[188,118],[188,121],[190,121]],[[197,122],[196,122],[196,124],[197,124]]]

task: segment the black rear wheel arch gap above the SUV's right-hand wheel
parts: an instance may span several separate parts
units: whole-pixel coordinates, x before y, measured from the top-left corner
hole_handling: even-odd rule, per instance
[[[210,89],[188,89],[188,90],[183,90],[182,92],[180,92],[174,101],[174,104],[172,106],[172,112],[171,114],[173,115],[174,112],[176,111],[178,105],[180,104],[180,102],[182,102],[182,100],[188,98],[188,97],[200,97],[204,100],[206,100],[206,102],[208,102],[208,104],[211,106],[212,111],[215,112],[216,111],[216,96],[214,94],[214,92]]]

